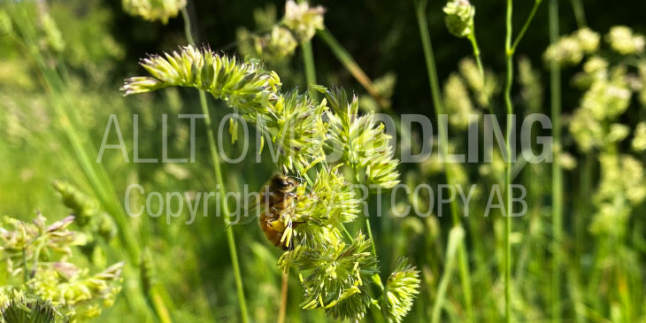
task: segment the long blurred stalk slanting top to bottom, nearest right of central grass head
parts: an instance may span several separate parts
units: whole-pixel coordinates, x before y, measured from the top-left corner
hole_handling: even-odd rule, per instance
[[[421,37],[422,47],[424,48],[424,57],[427,64],[427,73],[428,81],[430,83],[431,94],[433,98],[433,104],[435,105],[435,115],[437,119],[440,119],[441,115],[444,115],[444,106],[442,104],[442,96],[440,92],[440,84],[437,79],[437,71],[435,69],[435,58],[433,53],[433,46],[431,44],[431,36],[428,33],[428,22],[427,22],[427,0],[419,1],[416,12],[417,20],[419,24],[419,35]],[[449,139],[447,138],[448,132],[444,128],[444,123],[438,122],[438,132],[440,137],[440,154],[442,155],[442,160],[446,163],[448,162],[449,156],[449,147],[447,143]],[[445,166],[448,164],[445,164]],[[454,186],[455,181],[453,180],[453,175],[450,171],[450,168],[446,166],[445,169],[446,181],[450,186]],[[453,219],[454,227],[462,227],[461,221],[458,214],[458,202],[453,199],[450,202],[451,216]],[[460,279],[462,281],[462,289],[465,296],[465,310],[468,321],[473,321],[473,297],[471,291],[471,273],[469,271],[469,263],[466,254],[466,249],[464,243],[458,245],[458,261],[459,261],[459,271]],[[445,266],[445,270],[446,266]]]

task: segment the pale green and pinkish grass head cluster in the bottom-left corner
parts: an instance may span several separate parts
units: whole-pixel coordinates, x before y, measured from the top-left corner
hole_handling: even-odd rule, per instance
[[[69,216],[48,226],[40,213],[32,223],[4,218],[0,238],[9,282],[0,288],[4,309],[12,302],[41,299],[59,316],[76,320],[96,317],[112,306],[121,289],[123,263],[91,275],[89,268],[73,264],[73,247],[85,244],[83,235],[67,228],[73,220]]]

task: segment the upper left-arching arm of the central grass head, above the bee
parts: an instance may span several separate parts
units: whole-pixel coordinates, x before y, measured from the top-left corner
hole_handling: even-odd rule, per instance
[[[305,95],[279,92],[278,74],[263,70],[258,62],[241,63],[188,45],[172,55],[144,58],[141,64],[152,77],[128,78],[121,88],[126,95],[173,86],[197,88],[226,102],[269,135],[279,151],[279,165],[288,170],[303,172],[321,156],[324,137],[319,116],[327,109],[325,102],[315,104]]]

